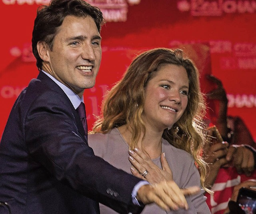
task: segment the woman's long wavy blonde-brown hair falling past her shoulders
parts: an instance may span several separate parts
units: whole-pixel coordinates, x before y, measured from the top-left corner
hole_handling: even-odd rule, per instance
[[[127,124],[132,133],[130,149],[134,149],[141,133],[145,133],[142,120],[145,88],[162,64],[174,64],[186,69],[189,80],[188,104],[181,118],[166,128],[162,137],[176,148],[192,154],[200,170],[202,187],[206,177],[206,163],[201,151],[206,142],[206,126],[202,122],[205,115],[204,96],[200,91],[199,74],[194,63],[183,58],[182,50],[156,48],[137,56],[128,67],[123,78],[108,92],[102,104],[102,116],[96,121],[92,132],[107,133],[115,127]]]

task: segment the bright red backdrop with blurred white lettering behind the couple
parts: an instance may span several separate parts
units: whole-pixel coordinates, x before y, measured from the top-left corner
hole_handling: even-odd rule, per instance
[[[31,52],[36,8],[48,0],[0,0],[0,136],[22,88],[38,70]],[[85,92],[88,126],[100,112],[104,92],[132,58],[155,47],[209,44],[210,70],[228,94],[228,114],[239,115],[256,139],[256,2],[253,0],[90,0],[102,9],[102,65]],[[198,63],[206,62],[201,55]],[[200,67],[200,65],[199,65]],[[209,71],[209,70],[208,70]],[[207,71],[207,72],[208,72]]]

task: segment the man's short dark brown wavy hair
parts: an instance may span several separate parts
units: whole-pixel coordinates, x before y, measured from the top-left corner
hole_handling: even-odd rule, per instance
[[[91,16],[100,32],[104,18],[99,8],[94,7],[84,0],[52,0],[49,6],[40,6],[37,10],[32,33],[32,51],[36,57],[38,70],[42,69],[43,60],[37,51],[37,43],[44,41],[52,50],[53,39],[57,29],[62,25],[66,16],[86,17]]]

